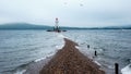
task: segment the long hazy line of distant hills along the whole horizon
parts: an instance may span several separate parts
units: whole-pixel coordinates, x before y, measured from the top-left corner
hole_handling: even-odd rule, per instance
[[[35,25],[27,23],[10,23],[0,25],[0,29],[53,29],[53,26]],[[131,29],[131,25],[128,26],[107,26],[107,27],[66,27],[60,26],[60,29]]]

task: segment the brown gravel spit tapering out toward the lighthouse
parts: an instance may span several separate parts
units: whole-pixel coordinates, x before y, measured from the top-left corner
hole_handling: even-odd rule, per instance
[[[75,48],[78,44],[64,38],[66,45],[40,70],[39,74],[105,74],[96,63]]]

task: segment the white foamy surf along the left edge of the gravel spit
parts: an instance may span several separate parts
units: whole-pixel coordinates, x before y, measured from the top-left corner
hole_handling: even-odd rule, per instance
[[[58,35],[59,39],[63,39],[64,36],[63,35]],[[59,40],[58,39],[58,40]],[[17,70],[15,71],[14,74],[32,74],[34,71],[34,74],[37,74],[37,72],[39,72],[39,70],[43,69],[43,66],[48,63],[48,61],[53,57],[53,54],[59,50],[62,49],[62,47],[64,46],[64,44],[60,42],[59,45],[56,45],[56,49],[49,53],[47,53],[47,55],[36,59],[32,62],[28,62],[26,64],[23,64],[21,66],[17,67]],[[23,67],[24,66],[24,67]],[[34,67],[35,66],[35,67]],[[23,69],[22,69],[23,67]]]

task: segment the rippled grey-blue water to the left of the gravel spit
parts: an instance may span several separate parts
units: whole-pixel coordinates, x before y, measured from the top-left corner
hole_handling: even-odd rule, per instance
[[[29,62],[53,53],[61,39],[46,30],[0,30],[0,74],[13,74]]]

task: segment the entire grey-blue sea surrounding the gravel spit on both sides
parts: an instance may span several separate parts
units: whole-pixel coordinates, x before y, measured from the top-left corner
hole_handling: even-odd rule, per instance
[[[115,74],[115,63],[119,64],[119,73],[126,74],[131,64],[131,29],[0,30],[0,74],[23,74],[31,63],[60,50],[64,37],[78,42],[76,48],[106,74]]]

